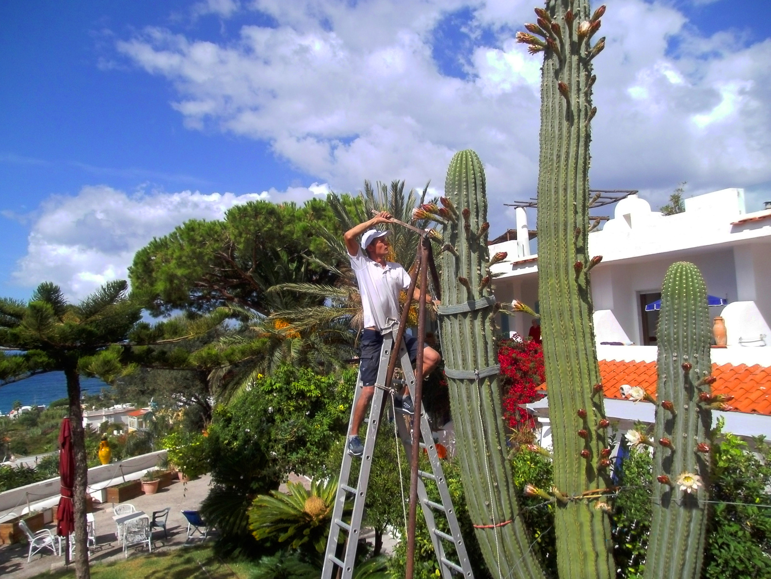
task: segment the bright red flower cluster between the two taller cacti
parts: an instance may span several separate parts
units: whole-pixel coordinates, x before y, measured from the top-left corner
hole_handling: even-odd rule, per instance
[[[520,404],[544,398],[537,388],[546,380],[544,350],[534,340],[503,340],[498,349],[503,418],[510,428],[535,428],[533,418]]]

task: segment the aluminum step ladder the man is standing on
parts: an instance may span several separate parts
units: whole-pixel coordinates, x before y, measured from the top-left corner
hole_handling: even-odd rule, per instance
[[[375,384],[386,383],[385,378],[388,373],[389,357],[391,356],[394,337],[397,333],[398,323],[395,323],[390,330],[385,330],[383,332],[383,344],[380,350],[380,367]],[[403,383],[409,386],[409,391],[412,392],[414,391],[415,386],[415,374],[412,372],[412,364],[410,364],[409,354],[404,345],[404,340],[402,340],[402,344],[399,344],[399,362],[404,374]],[[353,399],[353,407],[351,408],[351,418],[348,421],[348,432],[350,432],[351,423],[353,422],[353,411],[356,408],[356,402],[359,401],[359,396],[361,395],[360,387],[361,376],[359,375],[359,379],[356,381],[356,391]],[[359,479],[355,488],[348,486],[353,457],[348,454],[347,448],[343,453],[340,477],[338,479],[337,496],[335,497],[335,508],[332,510],[332,525],[329,529],[327,548],[324,554],[322,579],[333,579],[333,577],[352,579],[353,577],[356,547],[359,543],[359,532],[362,527],[362,516],[364,515],[364,503],[367,497],[369,471],[372,468],[372,454],[375,451],[375,438],[377,438],[378,428],[382,418],[384,396],[385,388],[375,386],[375,394],[372,396],[372,405],[369,411],[369,425],[367,426],[367,435],[364,441],[364,454],[361,458]],[[400,414],[395,415],[394,419],[398,425],[399,438],[404,445],[409,461],[409,457],[412,454],[412,432],[406,424],[404,416],[403,412],[401,412]],[[418,472],[418,499],[420,506],[423,509],[423,517],[426,519],[426,526],[431,535],[436,559],[439,561],[439,568],[442,571],[442,577],[443,579],[452,579],[456,574],[459,574],[461,577],[473,577],[469,557],[468,554],[466,554],[466,545],[463,543],[463,537],[460,534],[460,526],[453,507],[453,502],[450,499],[442,465],[439,461],[439,455],[436,452],[436,445],[433,442],[431,427],[428,418],[426,417],[426,412],[423,410],[421,411],[420,416],[420,433],[423,438],[423,442],[420,443],[420,448],[426,449],[432,472]],[[428,494],[426,493],[426,485],[423,482],[426,479],[436,483],[436,486],[439,489],[441,503],[434,503],[429,500]],[[354,503],[351,518],[346,522],[343,520],[343,510],[349,497],[353,497]],[[447,523],[449,523],[450,533],[444,533],[436,528],[436,520],[434,518],[435,511],[440,515],[443,514],[443,516],[445,516]],[[340,533],[344,534],[343,543],[341,545],[343,551],[342,559],[337,555]],[[449,559],[445,548],[446,544],[453,547],[453,549],[450,550],[450,553],[454,550],[457,562]],[[342,573],[338,575],[338,571]]]

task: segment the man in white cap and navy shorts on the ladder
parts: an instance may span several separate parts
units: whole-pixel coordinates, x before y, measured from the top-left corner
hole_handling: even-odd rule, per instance
[[[399,293],[408,289],[410,285],[406,270],[398,263],[385,259],[390,249],[388,242],[390,232],[374,229],[375,225],[389,222],[392,222],[392,216],[388,212],[379,212],[369,221],[349,229],[344,235],[348,259],[351,260],[351,267],[359,284],[362,310],[364,310],[364,331],[360,341],[361,361],[359,362],[362,395],[354,409],[351,430],[348,432],[348,452],[354,456],[362,456],[364,452],[364,445],[359,438],[359,426],[364,421],[372,394],[375,392],[375,379],[378,375],[380,348],[383,341],[382,330],[390,328],[392,320],[399,320]],[[362,235],[361,245],[357,241],[359,235]],[[427,292],[425,295],[425,299],[429,300]],[[419,288],[415,288],[413,297],[415,300],[421,299]],[[430,301],[435,303],[433,299]],[[404,344],[409,351],[410,361],[415,364],[417,340],[405,334]],[[423,348],[424,377],[431,373],[436,364],[439,364],[439,360],[439,352],[429,346]],[[400,404],[402,411],[413,414],[409,391],[405,391]]]

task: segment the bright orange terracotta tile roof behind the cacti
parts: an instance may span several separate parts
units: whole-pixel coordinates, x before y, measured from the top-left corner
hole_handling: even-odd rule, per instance
[[[600,361],[600,376],[605,398],[623,400],[621,385],[641,386],[648,394],[656,394],[655,362]],[[771,415],[771,367],[746,364],[712,364],[712,394],[732,394],[729,402],[738,412]],[[541,389],[546,384],[541,384]],[[640,402],[644,404],[644,402]]]

